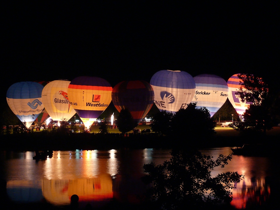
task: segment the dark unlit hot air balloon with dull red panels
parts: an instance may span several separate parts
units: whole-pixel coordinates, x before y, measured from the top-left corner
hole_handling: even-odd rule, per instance
[[[122,81],[112,90],[112,102],[119,112],[128,109],[137,126],[154,103],[154,91],[142,80]]]

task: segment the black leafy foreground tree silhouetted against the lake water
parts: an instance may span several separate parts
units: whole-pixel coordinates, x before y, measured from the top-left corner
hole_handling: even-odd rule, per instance
[[[172,150],[172,158],[162,165],[144,164],[143,180],[153,183],[149,192],[151,200],[160,209],[202,208],[232,200],[234,183],[244,176],[238,172],[225,172],[211,177],[215,167],[224,167],[232,155],[202,155],[195,149]]]

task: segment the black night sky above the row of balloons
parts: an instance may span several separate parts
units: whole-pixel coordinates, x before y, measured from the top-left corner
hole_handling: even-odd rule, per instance
[[[277,3],[78,2],[1,6],[1,98],[20,81],[86,75],[114,87],[166,69],[279,83]]]

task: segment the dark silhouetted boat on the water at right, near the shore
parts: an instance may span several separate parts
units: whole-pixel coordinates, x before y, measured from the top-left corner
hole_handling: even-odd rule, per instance
[[[266,156],[268,148],[263,144],[243,144],[242,147],[231,148],[234,155]]]

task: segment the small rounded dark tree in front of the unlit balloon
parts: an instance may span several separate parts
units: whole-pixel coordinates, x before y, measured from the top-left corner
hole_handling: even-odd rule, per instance
[[[128,109],[122,109],[120,111],[116,123],[118,130],[121,131],[121,133],[127,133],[137,126],[135,125],[132,115]]]

